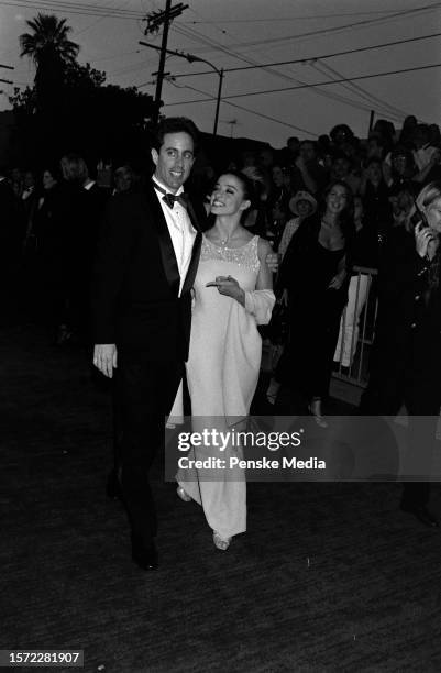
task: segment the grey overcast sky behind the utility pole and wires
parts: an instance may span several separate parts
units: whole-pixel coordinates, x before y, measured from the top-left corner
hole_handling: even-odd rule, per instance
[[[430,0],[187,0],[174,20],[168,48],[183,49],[217,68],[241,68],[305,59],[283,66],[225,73],[219,133],[249,136],[282,147],[289,135],[316,137],[348,123],[365,136],[370,110],[400,126],[406,114],[428,123],[441,122],[441,2]],[[178,4],[174,1],[173,5]],[[161,33],[144,35],[150,12],[165,0],[0,0],[0,77],[18,86],[32,82],[34,66],[19,56],[19,35],[25,20],[38,11],[66,18],[70,38],[80,45],[79,62],[108,74],[108,81],[141,86],[154,96],[152,73],[158,54],[139,45],[161,45]],[[327,55],[390,42],[408,41],[352,54]],[[427,68],[426,66],[434,66]],[[383,77],[328,86],[308,86],[335,79],[422,68]],[[166,114],[185,114],[210,132],[219,77],[205,64],[169,57],[166,71],[178,77],[164,82]],[[0,84],[0,109],[9,107]],[[280,89],[287,89],[280,91]],[[261,93],[261,91],[271,91]],[[255,95],[253,95],[255,93]],[[244,96],[245,95],[245,96]],[[233,97],[233,98],[231,98]],[[208,100],[207,100],[208,99]],[[190,101],[190,102],[188,102]],[[199,101],[199,102],[191,102]]]

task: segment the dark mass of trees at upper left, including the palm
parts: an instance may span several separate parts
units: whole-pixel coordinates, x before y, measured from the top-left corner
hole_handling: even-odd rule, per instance
[[[38,14],[27,23],[34,33],[22,35],[20,44],[22,55],[36,63],[34,86],[15,89],[10,98],[23,161],[42,164],[64,152],[92,159],[140,154],[155,109],[152,97],[135,87],[108,85],[106,73],[80,65],[64,19]]]

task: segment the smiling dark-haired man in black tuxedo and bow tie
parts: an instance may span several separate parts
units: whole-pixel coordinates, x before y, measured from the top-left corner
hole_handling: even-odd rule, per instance
[[[186,118],[161,122],[152,148],[155,172],[144,191],[108,205],[92,280],[93,364],[115,376],[122,411],[121,487],[133,561],[157,567],[155,505],[148,470],[162,445],[188,355],[191,286],[203,208],[183,196],[197,144]]]

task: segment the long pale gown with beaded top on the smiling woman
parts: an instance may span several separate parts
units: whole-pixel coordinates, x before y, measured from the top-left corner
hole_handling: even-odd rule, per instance
[[[205,428],[228,432],[244,419],[257,385],[262,340],[253,316],[235,299],[206,287],[217,276],[232,276],[245,291],[254,290],[260,269],[258,236],[239,249],[218,246],[203,239],[195,282],[187,380],[194,432]],[[242,457],[229,442],[194,448],[197,460]],[[223,538],[246,530],[246,484],[241,468],[183,471],[179,484],[202,505],[209,526]]]

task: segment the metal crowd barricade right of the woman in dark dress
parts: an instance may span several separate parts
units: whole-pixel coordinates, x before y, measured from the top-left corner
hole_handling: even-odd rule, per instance
[[[354,266],[353,272],[348,305],[340,322],[333,377],[365,388],[378,309],[376,287],[378,272],[363,266]]]

